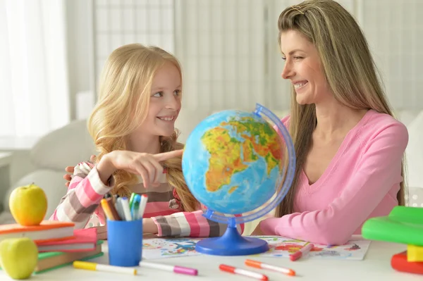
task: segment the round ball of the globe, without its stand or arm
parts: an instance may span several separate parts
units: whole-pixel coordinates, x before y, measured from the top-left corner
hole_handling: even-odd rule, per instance
[[[278,189],[283,145],[255,113],[221,111],[195,127],[185,144],[183,175],[200,203],[226,214],[246,213]]]

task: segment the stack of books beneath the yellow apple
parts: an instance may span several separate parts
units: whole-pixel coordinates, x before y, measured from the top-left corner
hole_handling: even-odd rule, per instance
[[[103,241],[97,241],[97,229],[74,230],[74,227],[74,223],[48,220],[35,226],[0,225],[0,241],[13,237],[32,239],[39,252],[35,274],[103,256]]]

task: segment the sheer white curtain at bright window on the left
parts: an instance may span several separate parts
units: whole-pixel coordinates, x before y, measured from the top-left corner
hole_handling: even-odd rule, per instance
[[[70,120],[65,0],[0,0],[0,137]]]

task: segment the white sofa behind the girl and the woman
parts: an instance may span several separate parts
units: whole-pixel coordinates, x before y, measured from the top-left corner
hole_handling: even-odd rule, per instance
[[[183,109],[176,127],[180,129],[180,141],[185,142],[188,135],[200,121],[214,111],[192,111]],[[278,117],[286,111],[273,111]],[[410,206],[423,206],[423,111],[399,111],[398,118],[408,127],[410,142],[407,147],[408,184],[410,186]],[[0,213],[0,224],[13,223],[8,209],[8,194],[20,185],[37,183],[44,189],[49,200],[47,218],[53,213],[61,197],[66,193],[64,168],[85,161],[94,154],[92,139],[87,133],[85,120],[74,121],[65,127],[49,133],[32,148],[30,161],[37,167],[32,173],[22,177],[11,185],[4,198],[4,211]],[[252,231],[255,223],[250,224]]]

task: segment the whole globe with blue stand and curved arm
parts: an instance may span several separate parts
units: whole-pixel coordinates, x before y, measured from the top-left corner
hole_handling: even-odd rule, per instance
[[[292,183],[295,150],[274,113],[257,104],[253,112],[227,110],[205,118],[188,136],[182,169],[190,192],[207,208],[204,216],[228,224],[223,237],[203,239],[197,251],[240,255],[269,249],[264,240],[241,237],[236,224],[269,213]]]

